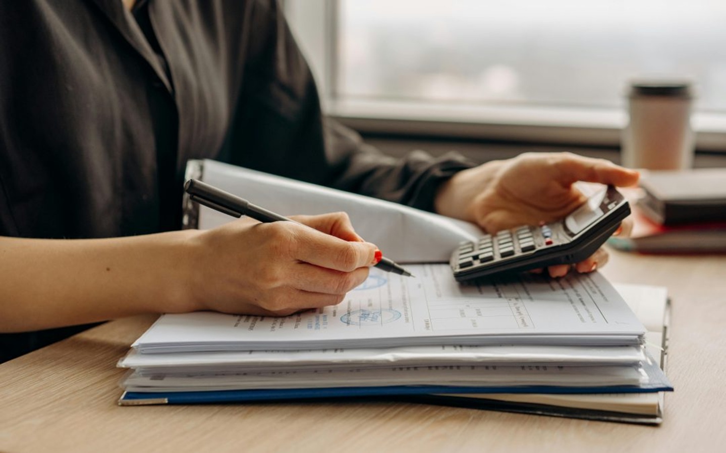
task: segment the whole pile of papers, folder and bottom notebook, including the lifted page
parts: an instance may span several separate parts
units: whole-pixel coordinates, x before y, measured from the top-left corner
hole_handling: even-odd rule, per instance
[[[219,162],[189,162],[187,178],[285,214],[346,210],[386,256],[428,264],[407,265],[416,278],[373,268],[341,304],[289,317],[163,315],[118,364],[119,404],[345,397],[661,421],[663,288],[599,273],[460,284],[445,263],[476,225]],[[185,207],[189,228],[228,220]]]

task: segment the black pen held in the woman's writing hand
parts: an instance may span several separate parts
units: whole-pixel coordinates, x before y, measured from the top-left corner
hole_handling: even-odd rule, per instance
[[[200,180],[190,179],[184,184],[184,191],[189,194],[189,198],[192,201],[197,201],[199,204],[203,204],[206,207],[215,209],[224,214],[231,215],[232,217],[242,217],[247,215],[253,219],[259,220],[263,223],[269,222],[280,222],[286,220],[287,222],[295,222],[295,220],[288,219],[285,216],[275,214],[272,211],[268,211],[262,207],[258,207],[249,201],[240,198],[239,196],[229,194],[219,188],[210,186],[207,183],[203,183]],[[295,222],[298,223],[298,222]],[[375,267],[386,272],[392,272],[399,275],[405,275],[412,277],[409,271],[403,267],[397,265],[395,262],[388,258],[381,258]]]

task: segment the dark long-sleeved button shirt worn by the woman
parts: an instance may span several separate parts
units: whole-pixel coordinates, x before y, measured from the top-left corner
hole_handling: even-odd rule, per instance
[[[470,166],[385,157],[325,119],[274,1],[0,2],[0,236],[179,228],[201,158],[422,209]],[[71,331],[0,335],[0,361]]]

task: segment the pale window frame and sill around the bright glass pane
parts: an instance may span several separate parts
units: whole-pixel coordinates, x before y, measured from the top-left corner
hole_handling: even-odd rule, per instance
[[[363,133],[446,136],[538,144],[619,146],[624,109],[523,107],[344,99],[338,73],[338,0],[286,0],[285,13],[317,81],[323,111]],[[694,112],[699,151],[726,153],[726,114]]]

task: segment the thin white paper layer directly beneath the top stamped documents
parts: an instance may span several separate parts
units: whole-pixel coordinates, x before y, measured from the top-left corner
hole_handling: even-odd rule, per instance
[[[139,354],[131,349],[118,366],[150,374],[160,370],[164,373],[218,373],[392,365],[637,365],[643,360],[645,354],[641,346],[408,346],[176,354]]]

